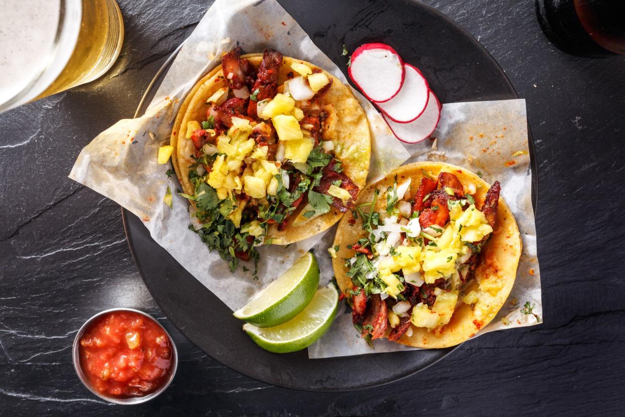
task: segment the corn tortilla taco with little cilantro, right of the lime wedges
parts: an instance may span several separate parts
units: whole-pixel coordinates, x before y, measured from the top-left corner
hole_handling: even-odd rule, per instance
[[[505,303],[521,236],[501,185],[445,163],[401,166],[339,223],[332,265],[367,341],[445,348]]]

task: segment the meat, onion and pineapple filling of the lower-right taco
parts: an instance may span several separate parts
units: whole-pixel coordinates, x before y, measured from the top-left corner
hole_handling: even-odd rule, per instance
[[[452,173],[422,177],[413,196],[410,189],[411,178],[398,184],[395,177],[381,202],[385,209],[375,210],[377,189],[372,202],[356,206],[366,235],[347,246],[354,256],[345,259],[352,282],[346,295],[367,341],[397,341],[411,336],[412,326],[439,328],[458,301],[471,309],[477,302],[476,291],[466,290],[497,222],[499,182],[479,207]]]

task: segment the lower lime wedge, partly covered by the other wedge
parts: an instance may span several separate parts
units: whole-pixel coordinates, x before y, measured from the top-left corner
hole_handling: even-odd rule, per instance
[[[274,353],[295,352],[310,346],[330,328],[339,305],[334,284],[318,289],[310,304],[294,318],[276,327],[244,324],[243,330],[261,348]]]

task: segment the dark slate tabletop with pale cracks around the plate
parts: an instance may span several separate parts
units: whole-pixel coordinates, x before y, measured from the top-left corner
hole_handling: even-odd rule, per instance
[[[424,3],[479,39],[527,99],[540,175],[545,324],[489,334],[424,373],[352,393],[304,393],[259,383],[186,341],[145,289],[119,207],[67,174],[91,138],[133,115],[138,92],[190,33],[206,3],[119,0],[126,42],[104,78],[0,115],[0,415],[621,411],[625,58],[561,53],[542,35],[532,1]],[[328,29],[341,36],[332,24]],[[151,403],[109,406],[74,374],[70,346],[76,329],[113,306],[154,314],[176,339],[178,375]]]

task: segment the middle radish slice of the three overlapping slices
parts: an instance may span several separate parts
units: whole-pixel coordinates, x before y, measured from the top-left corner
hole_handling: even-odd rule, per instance
[[[410,123],[421,116],[429,101],[429,85],[421,71],[411,64],[404,64],[406,78],[399,93],[389,101],[377,103],[389,119],[397,123]]]

